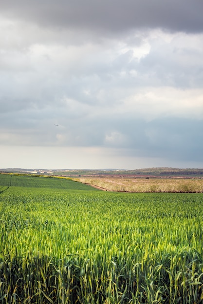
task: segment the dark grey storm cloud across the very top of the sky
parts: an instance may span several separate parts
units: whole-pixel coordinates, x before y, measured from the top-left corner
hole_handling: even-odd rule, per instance
[[[163,28],[187,33],[203,31],[202,0],[11,0],[1,14],[42,26],[122,32]]]

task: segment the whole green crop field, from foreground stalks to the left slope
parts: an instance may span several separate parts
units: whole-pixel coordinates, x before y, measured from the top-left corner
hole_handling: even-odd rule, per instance
[[[2,304],[203,303],[203,194],[2,174],[0,223]]]

